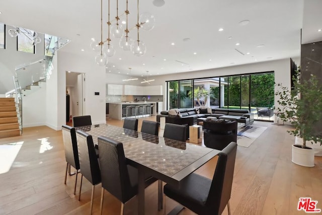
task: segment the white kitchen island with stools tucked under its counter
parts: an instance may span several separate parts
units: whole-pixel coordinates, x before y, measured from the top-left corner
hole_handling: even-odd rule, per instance
[[[144,105],[144,107],[143,107]],[[145,107],[146,105],[146,107]],[[109,103],[109,117],[112,119],[121,120],[126,117],[126,107],[130,106],[131,109],[128,109],[128,117],[135,117],[135,112],[137,117],[149,116],[150,115],[150,106],[154,105],[151,108],[151,115],[156,115],[156,102],[112,102]],[[139,108],[135,108],[139,107]],[[144,108],[144,109],[143,109]],[[144,110],[144,115],[142,111]],[[133,113],[133,114],[132,114]]]

